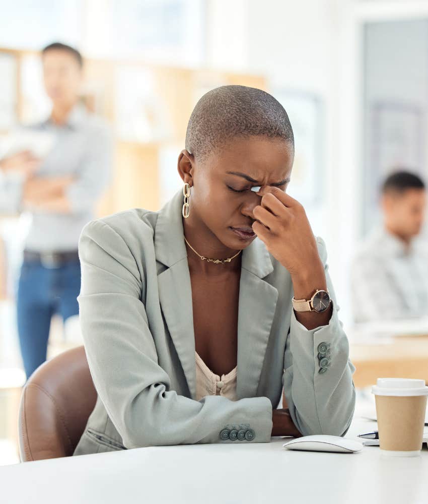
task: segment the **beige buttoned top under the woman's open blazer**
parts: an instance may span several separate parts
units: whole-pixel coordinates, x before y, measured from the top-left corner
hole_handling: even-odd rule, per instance
[[[237,401],[236,397],[236,370],[237,367],[222,374],[214,374],[195,352],[196,358],[196,401],[205,396],[224,396],[231,401]]]

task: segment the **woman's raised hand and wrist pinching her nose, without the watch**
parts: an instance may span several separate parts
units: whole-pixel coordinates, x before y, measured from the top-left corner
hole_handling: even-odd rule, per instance
[[[260,205],[253,209],[252,228],[267,250],[291,275],[296,299],[312,298],[315,291],[327,290],[324,265],[303,206],[279,187],[263,186]],[[328,323],[331,308],[325,312],[297,312],[296,318],[307,329]]]

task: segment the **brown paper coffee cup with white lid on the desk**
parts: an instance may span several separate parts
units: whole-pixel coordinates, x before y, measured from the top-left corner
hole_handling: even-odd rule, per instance
[[[422,448],[428,387],[424,380],[378,378],[373,386],[382,454],[414,457]]]

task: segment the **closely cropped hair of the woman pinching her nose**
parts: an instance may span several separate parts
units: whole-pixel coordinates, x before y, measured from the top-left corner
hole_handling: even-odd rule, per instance
[[[273,96],[247,86],[221,86],[205,93],[190,115],[186,149],[197,158],[236,137],[263,136],[294,149],[289,116]]]

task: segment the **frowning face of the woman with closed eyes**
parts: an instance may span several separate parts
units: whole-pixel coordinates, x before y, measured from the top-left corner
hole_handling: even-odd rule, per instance
[[[237,138],[212,151],[203,162],[192,155],[189,158],[191,168],[184,174],[184,181],[192,187],[192,223],[205,225],[228,248],[246,248],[255,236],[244,238],[232,228],[251,231],[256,220],[253,209],[261,201],[251,187],[274,185],[286,190],[293,167],[293,146],[265,137]]]

